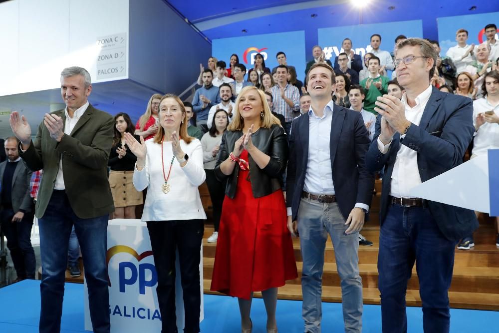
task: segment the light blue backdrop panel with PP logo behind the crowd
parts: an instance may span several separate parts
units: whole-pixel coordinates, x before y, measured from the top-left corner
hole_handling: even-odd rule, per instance
[[[287,63],[296,67],[298,79],[305,71],[305,32],[291,31],[267,33],[244,37],[214,39],[212,54],[218,60],[224,60],[229,67],[232,53],[239,56],[239,62],[249,70],[254,66],[254,55],[261,53],[265,66],[272,70],[277,66],[275,54],[286,53]]]

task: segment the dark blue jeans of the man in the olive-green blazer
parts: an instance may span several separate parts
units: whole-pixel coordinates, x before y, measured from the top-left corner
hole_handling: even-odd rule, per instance
[[[40,333],[60,331],[69,235],[73,225],[84,259],[93,331],[110,332],[107,223],[107,215],[78,218],[71,209],[66,192],[53,191],[45,214],[38,220],[42,266]]]

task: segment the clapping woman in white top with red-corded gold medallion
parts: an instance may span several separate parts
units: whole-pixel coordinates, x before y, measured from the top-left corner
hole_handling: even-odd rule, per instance
[[[203,149],[187,134],[184,104],[167,94],[159,105],[160,127],[153,140],[138,142],[130,133],[126,143],[137,156],[133,184],[146,187],[142,221],[147,222],[158,274],[162,332],[177,332],[175,316],[175,250],[179,250],[184,291],[184,332],[197,333],[201,306],[200,249],[205,211],[198,186],[205,181]],[[182,329],[182,328],[180,328]]]

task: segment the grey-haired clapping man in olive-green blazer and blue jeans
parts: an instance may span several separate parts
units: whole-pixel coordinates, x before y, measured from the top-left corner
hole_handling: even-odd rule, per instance
[[[40,333],[60,331],[69,235],[74,225],[88,285],[94,332],[109,333],[107,223],[114,211],[107,180],[113,117],[87,98],[90,74],[81,67],[61,72],[64,110],[45,114],[34,142],[24,116],[10,116],[20,156],[33,171],[43,169],[35,214],[42,264]]]

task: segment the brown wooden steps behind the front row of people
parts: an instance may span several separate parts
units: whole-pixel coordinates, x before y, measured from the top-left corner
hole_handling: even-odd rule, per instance
[[[379,250],[378,212],[381,182],[377,180],[375,185],[378,193],[373,197],[370,221],[366,222],[362,230],[362,235],[374,244],[371,247],[359,247],[364,304],[380,304],[376,263]],[[205,184],[200,187],[200,194],[208,215],[203,238],[204,289],[206,294],[217,294],[210,291],[216,243],[207,242],[207,238],[213,233],[213,226],[210,224],[211,202]],[[449,291],[452,308],[499,311],[499,249],[496,247],[495,220],[483,215],[480,218],[480,228],[474,234],[475,248],[468,251],[456,250],[454,277]],[[298,239],[293,239],[293,246],[300,277],[302,261]],[[82,283],[83,267],[81,272],[82,276],[76,279],[69,277],[66,272],[66,281]],[[261,294],[255,293],[255,297],[261,297]],[[300,278],[288,281],[284,287],[279,288],[278,297],[285,300],[301,300]],[[341,302],[340,281],[330,240],[325,250],[322,299],[324,302]],[[406,301],[408,306],[421,306],[415,269],[409,280]]]

